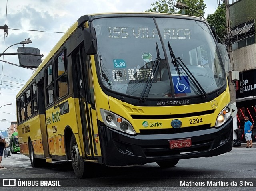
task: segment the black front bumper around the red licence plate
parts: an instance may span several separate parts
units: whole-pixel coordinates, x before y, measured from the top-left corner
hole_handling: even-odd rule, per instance
[[[220,128],[210,128],[177,134],[135,136],[99,127],[103,163],[108,166],[143,165],[172,159],[210,157],[232,150],[233,120]],[[191,138],[188,148],[169,148],[169,140]]]

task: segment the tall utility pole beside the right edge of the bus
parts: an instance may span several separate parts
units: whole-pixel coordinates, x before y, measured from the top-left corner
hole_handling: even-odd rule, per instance
[[[231,42],[231,28],[230,28],[230,13],[229,13],[229,2],[228,0],[223,0],[225,2],[226,6],[226,26],[227,26],[227,51],[228,51],[228,56],[231,62],[232,66],[232,71],[234,70],[234,63],[233,63],[233,57],[232,57],[232,42]],[[230,91],[230,99],[231,99],[231,104],[236,105],[236,88],[235,88],[235,83],[234,80],[232,80],[232,71],[229,72],[228,75],[228,83],[229,83],[229,91]],[[237,118],[236,116],[233,117],[233,129],[237,129]],[[235,136],[235,134],[234,134]]]

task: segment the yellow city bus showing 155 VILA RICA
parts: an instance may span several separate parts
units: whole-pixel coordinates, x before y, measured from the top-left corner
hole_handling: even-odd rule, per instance
[[[223,58],[201,18],[81,16],[16,96],[20,152],[32,167],[71,160],[79,178],[90,163],[173,167],[229,152]]]

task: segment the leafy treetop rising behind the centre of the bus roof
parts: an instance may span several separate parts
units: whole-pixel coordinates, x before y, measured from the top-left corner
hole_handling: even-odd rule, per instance
[[[151,4],[151,9],[146,12],[158,12],[158,13],[174,13],[180,14],[181,10],[175,7],[176,2],[181,2],[188,5],[190,8],[197,10],[201,14],[204,14],[206,4],[204,0],[157,0],[155,3]],[[192,15],[200,17],[200,14],[193,10],[186,10],[186,15]]]

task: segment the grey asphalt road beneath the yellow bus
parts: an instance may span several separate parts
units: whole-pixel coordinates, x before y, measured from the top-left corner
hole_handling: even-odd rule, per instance
[[[243,145],[244,146],[244,145]],[[256,190],[256,148],[233,148],[231,152],[211,158],[195,158],[180,160],[179,163],[169,169],[162,169],[156,163],[132,167],[104,167],[92,164],[90,178],[76,179],[71,162],[54,162],[50,167],[32,168],[30,159],[22,154],[12,154],[3,158],[2,165],[6,169],[0,170],[0,178],[35,178],[57,180],[61,178],[63,187],[26,187],[24,190]],[[180,185],[183,183],[203,183],[207,181],[223,184],[231,181],[242,181],[241,187],[188,187]],[[244,184],[253,183],[253,187]],[[62,185],[63,185],[62,184]],[[175,188],[174,188],[175,186]],[[69,187],[69,188],[68,188]],[[3,187],[2,187],[3,188]],[[1,187],[0,187],[1,190]],[[4,188],[9,190],[9,188]]]

